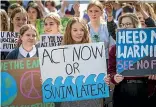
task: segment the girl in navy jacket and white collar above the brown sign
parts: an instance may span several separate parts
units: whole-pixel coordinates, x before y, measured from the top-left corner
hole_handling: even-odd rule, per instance
[[[23,25],[19,31],[20,43],[18,48],[8,54],[6,59],[21,59],[27,57],[37,57],[38,51],[35,47],[37,30],[31,24]]]

